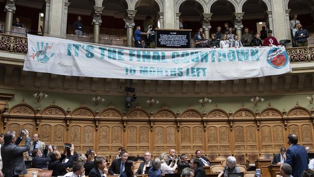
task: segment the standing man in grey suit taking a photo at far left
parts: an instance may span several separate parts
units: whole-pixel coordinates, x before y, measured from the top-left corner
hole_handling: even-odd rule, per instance
[[[19,143],[23,140],[22,135],[26,136],[25,146],[19,147]],[[2,173],[5,177],[18,177],[27,173],[23,153],[29,150],[29,146],[30,138],[27,130],[18,139],[16,139],[15,132],[12,130],[5,133],[4,144],[1,146]]]

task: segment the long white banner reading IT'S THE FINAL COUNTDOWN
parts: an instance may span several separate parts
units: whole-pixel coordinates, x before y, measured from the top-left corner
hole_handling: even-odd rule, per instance
[[[154,80],[232,80],[291,71],[284,47],[139,49],[27,36],[26,71]]]

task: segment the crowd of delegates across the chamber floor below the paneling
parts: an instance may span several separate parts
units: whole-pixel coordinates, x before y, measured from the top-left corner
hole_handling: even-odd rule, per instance
[[[222,35],[222,40],[226,38],[227,34]],[[92,149],[88,149],[85,154],[78,154],[74,150],[74,145],[65,144],[59,151],[56,146],[45,145],[44,142],[39,141],[39,134],[34,134],[31,141],[26,129],[21,130],[19,137],[16,135],[12,130],[4,135],[0,134],[0,177],[18,177],[27,173],[24,152],[27,159],[32,161],[32,168],[52,170],[53,177],[106,177],[107,174],[120,175],[120,177],[144,174],[148,174],[149,177],[161,177],[162,174],[175,173],[178,166],[179,169],[184,168],[181,169],[182,177],[206,177],[204,166],[211,165],[209,159],[203,156],[200,150],[196,150],[195,156],[188,162],[189,158],[186,154],[181,154],[178,158],[176,150],[170,149],[169,155],[160,153],[154,159],[150,152],[145,152],[143,162],[135,172],[134,162],[128,160],[128,152],[121,147],[107,169],[106,157],[97,156]],[[25,146],[18,146],[23,140]],[[281,148],[280,153],[274,155],[272,164],[281,165],[280,175],[277,177],[314,177],[314,160],[309,162],[309,148],[302,147],[297,142],[298,137],[289,134],[288,150]],[[68,172],[69,168],[72,171]],[[227,158],[226,166],[218,177],[228,177],[230,173],[240,173],[233,156]]]

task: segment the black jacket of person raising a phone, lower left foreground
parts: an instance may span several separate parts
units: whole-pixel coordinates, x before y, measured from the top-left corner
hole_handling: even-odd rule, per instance
[[[52,163],[49,164],[48,170],[53,170],[52,177],[63,176],[67,174],[65,169],[70,166],[73,166],[73,161],[74,161],[73,155],[70,155],[67,163],[62,163],[62,160],[64,158],[66,158],[66,156],[61,154],[60,160],[53,161]]]

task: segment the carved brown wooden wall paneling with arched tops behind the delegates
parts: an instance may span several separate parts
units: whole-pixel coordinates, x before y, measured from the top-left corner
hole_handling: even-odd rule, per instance
[[[1,117],[3,132],[26,128],[30,134],[39,133],[46,144],[73,143],[78,152],[95,149],[110,159],[122,146],[134,156],[144,151],[157,156],[174,148],[178,154],[194,156],[195,150],[201,150],[209,158],[234,155],[238,163],[254,163],[259,155],[288,148],[289,133],[299,135],[299,144],[310,147],[314,135],[314,115],[298,105],[288,113],[270,106],[262,113],[245,106],[229,114],[218,107],[200,113],[190,106],[175,114],[167,107],[148,113],[140,106],[122,113],[112,105],[94,112],[85,104],[65,111],[54,103],[35,110],[22,101],[4,109]]]

